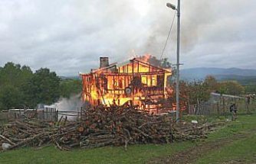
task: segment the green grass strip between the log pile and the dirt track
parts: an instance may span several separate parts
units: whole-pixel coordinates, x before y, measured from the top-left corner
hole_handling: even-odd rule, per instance
[[[0,154],[0,163],[143,163],[150,158],[168,156],[192,146],[191,142],[165,145],[101,147],[92,150],[60,151],[49,146],[42,150],[23,148]]]

